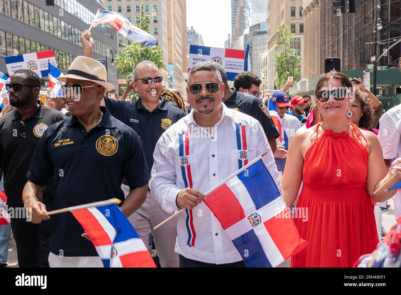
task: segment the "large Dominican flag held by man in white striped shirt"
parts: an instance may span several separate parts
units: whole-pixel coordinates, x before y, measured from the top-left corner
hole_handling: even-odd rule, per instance
[[[276,267],[308,245],[266,168],[266,158],[240,169],[205,201],[247,267]]]

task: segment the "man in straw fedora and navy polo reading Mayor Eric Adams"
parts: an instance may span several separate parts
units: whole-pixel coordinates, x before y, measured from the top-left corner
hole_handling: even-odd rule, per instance
[[[107,83],[105,67],[78,56],[58,79],[68,87],[65,97],[72,116],[48,128],[36,148],[22,194],[32,208],[32,222],[49,219],[43,214],[47,208],[41,192],[51,179],[56,210],[116,197],[124,200],[121,210],[130,216],[146,198],[149,171],[138,134],[99,108],[104,92],[114,88]],[[120,188],[124,175],[130,189],[125,199]],[[52,219],[51,267],[103,267],[71,212]]]

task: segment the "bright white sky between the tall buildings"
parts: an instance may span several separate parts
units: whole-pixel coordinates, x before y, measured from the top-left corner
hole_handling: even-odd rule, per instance
[[[224,47],[231,34],[231,1],[186,0],[186,26],[202,34],[205,46]]]

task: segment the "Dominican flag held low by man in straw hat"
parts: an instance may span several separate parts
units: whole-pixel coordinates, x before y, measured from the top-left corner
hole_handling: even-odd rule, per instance
[[[146,246],[116,204],[71,210],[104,267],[156,267]]]

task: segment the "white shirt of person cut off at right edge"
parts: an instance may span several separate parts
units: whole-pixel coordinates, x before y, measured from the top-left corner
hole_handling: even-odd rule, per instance
[[[401,104],[391,108],[380,118],[379,141],[384,159],[401,157]],[[401,215],[401,189],[394,196],[394,215]]]

